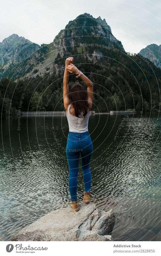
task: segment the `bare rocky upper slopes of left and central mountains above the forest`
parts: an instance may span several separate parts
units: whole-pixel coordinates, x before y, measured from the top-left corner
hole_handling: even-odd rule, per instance
[[[0,73],[3,77],[13,79],[42,75],[47,71],[55,71],[58,65],[54,61],[59,58],[83,52],[89,61],[96,61],[96,55],[106,53],[110,47],[125,52],[105,19],[93,18],[84,13],[69,21],[48,45],[39,46],[16,34],[4,39],[0,43]]]

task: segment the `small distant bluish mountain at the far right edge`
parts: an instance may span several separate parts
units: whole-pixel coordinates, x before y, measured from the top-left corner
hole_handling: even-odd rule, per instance
[[[161,68],[161,45],[155,43],[148,45],[139,52],[145,58],[150,59],[156,67]]]

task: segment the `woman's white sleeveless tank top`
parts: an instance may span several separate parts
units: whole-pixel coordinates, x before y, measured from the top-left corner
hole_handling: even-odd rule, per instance
[[[87,115],[83,115],[84,113],[80,113],[80,117],[71,115],[69,112],[70,107],[72,104],[69,104],[68,110],[67,110],[67,120],[69,125],[69,131],[72,132],[85,132],[88,131],[88,120],[90,117],[89,109],[87,112]]]

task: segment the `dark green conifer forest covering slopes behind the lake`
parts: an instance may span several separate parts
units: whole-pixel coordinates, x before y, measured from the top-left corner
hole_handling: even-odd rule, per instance
[[[140,55],[102,49],[92,60],[93,49],[70,51],[74,64],[93,82],[93,107],[96,112],[110,110],[159,111],[161,69],[147,63]],[[91,53],[90,53],[91,51]],[[103,52],[104,51],[104,52]],[[0,108],[3,115],[17,111],[63,111],[64,55],[58,53],[53,71],[32,78],[13,81],[7,77],[0,81]],[[55,69],[54,67],[58,67]],[[69,74],[69,91],[73,83],[81,82]],[[84,88],[86,86],[84,85]],[[20,105],[21,104],[21,105]],[[21,106],[21,108],[20,108]]]

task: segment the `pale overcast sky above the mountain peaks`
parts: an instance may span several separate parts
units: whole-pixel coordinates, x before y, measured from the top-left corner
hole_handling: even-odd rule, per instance
[[[0,42],[18,34],[39,45],[51,43],[69,21],[87,12],[105,18],[126,52],[161,44],[161,0],[5,0],[0,10]]]

